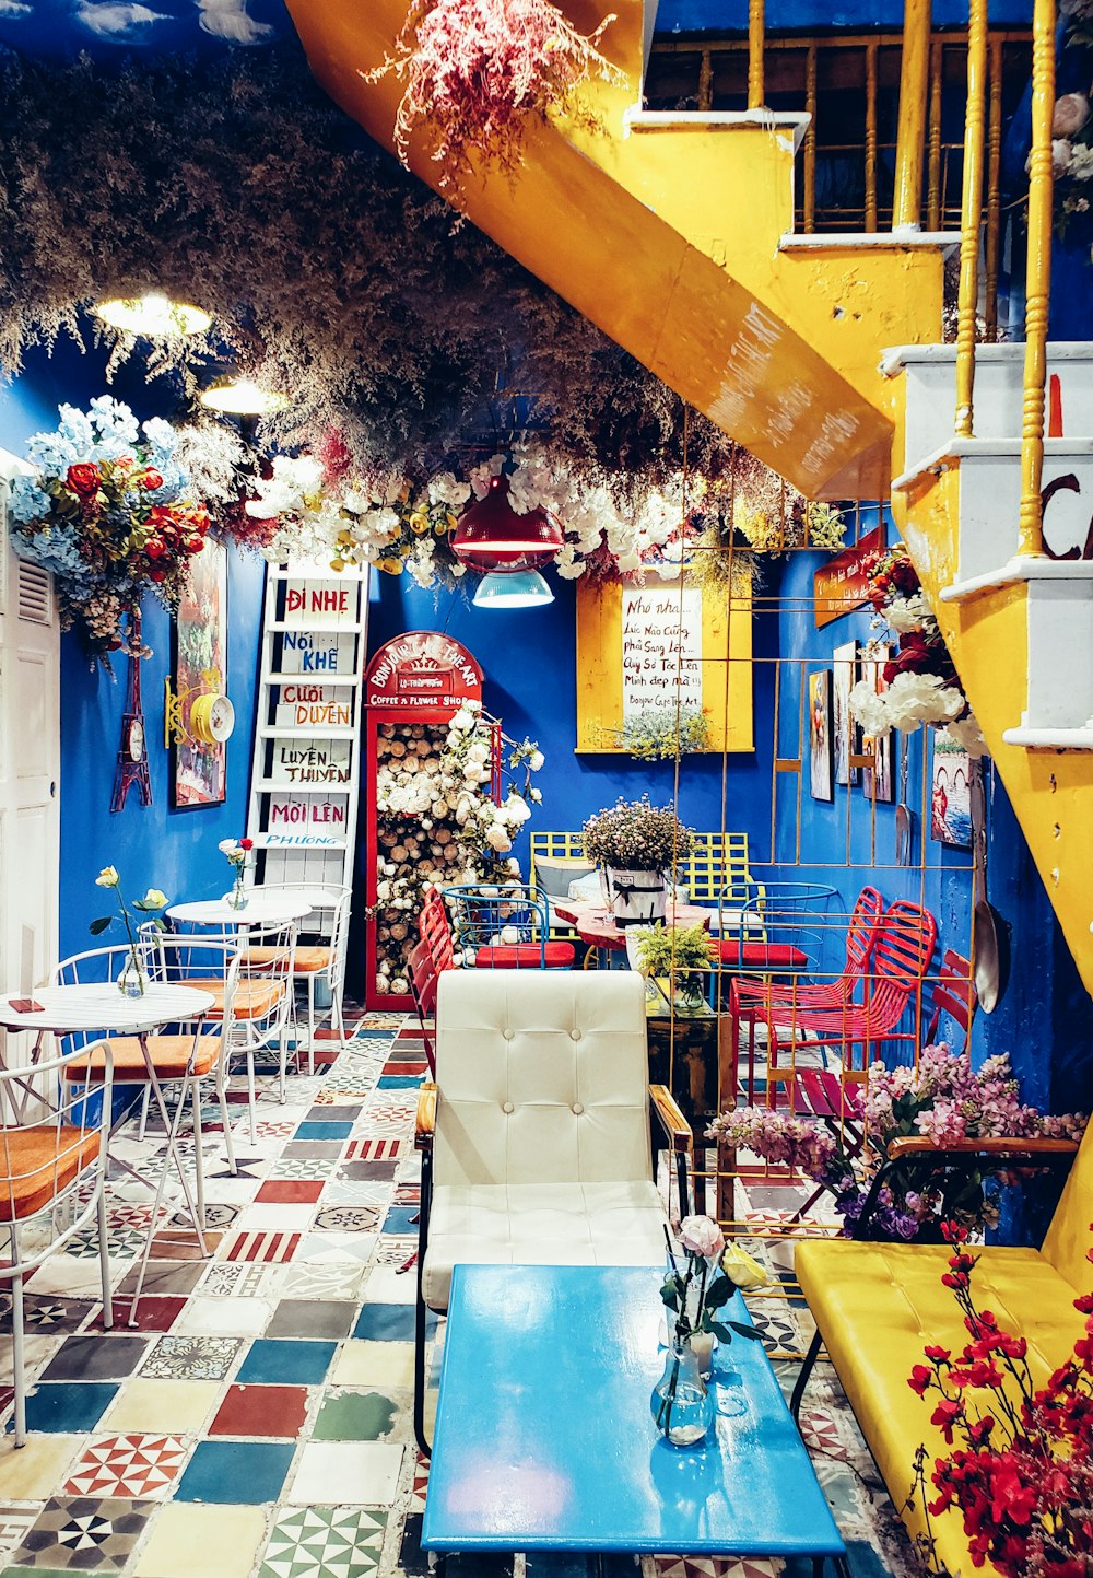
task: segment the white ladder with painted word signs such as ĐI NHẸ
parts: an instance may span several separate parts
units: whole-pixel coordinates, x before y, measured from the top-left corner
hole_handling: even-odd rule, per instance
[[[248,836],[260,882],[353,882],[367,567],[268,567]]]

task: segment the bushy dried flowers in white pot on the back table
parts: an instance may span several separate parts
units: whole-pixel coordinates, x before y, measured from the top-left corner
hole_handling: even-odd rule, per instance
[[[607,873],[607,901],[620,926],[664,920],[664,873],[691,854],[692,833],[672,806],[618,800],[584,825],[588,860]]]

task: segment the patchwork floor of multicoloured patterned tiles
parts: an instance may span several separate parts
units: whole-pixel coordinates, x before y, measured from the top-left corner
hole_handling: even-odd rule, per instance
[[[254,1144],[233,1073],[238,1176],[208,1109],[211,1231],[199,1245],[172,1163],[136,1329],[126,1322],[153,1198],[140,1180],[155,1187],[167,1158],[162,1125],[145,1141],[136,1122],[121,1127],[115,1154],[126,1168],[110,1166],[107,1207],[114,1330],[103,1330],[93,1228],[27,1291],[30,1430],[22,1452],[0,1444],[0,1578],[429,1578],[435,1559],[420,1548],[429,1471],[410,1445],[421,1176],[412,1128],[426,1064],[416,1021],[396,1038],[401,1024],[369,1016],[344,1053],[320,1037],[314,1076],[290,1060],[284,1105],[270,1065]],[[188,1106],[178,1154],[192,1169]],[[760,1234],[757,1223],[752,1253],[789,1273],[784,1243]],[[808,1341],[795,1296],[751,1305],[770,1346]],[[0,1332],[8,1311],[0,1292]],[[431,1318],[429,1330],[435,1387],[443,1326]],[[0,1367],[8,1354],[0,1340]],[[789,1389],[796,1365],[773,1363]],[[0,1423],[9,1409],[0,1368]],[[912,1578],[902,1524],[830,1371],[815,1376],[801,1423],[852,1578]],[[532,1562],[530,1578],[549,1565]],[[607,1565],[639,1578],[631,1557]],[[806,1567],[647,1556],[640,1578],[808,1578]],[[448,1572],[513,1578],[514,1562],[465,1553]],[[587,1572],[565,1564],[569,1578]]]

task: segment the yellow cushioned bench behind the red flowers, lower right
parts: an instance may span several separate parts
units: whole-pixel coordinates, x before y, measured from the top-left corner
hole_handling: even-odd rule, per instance
[[[1069,1141],[965,1141],[953,1152],[990,1150],[1041,1161],[1074,1152]],[[897,1139],[890,1158],[913,1152],[937,1152],[924,1139]],[[1085,1251],[1093,1247],[1093,1125],[1085,1135],[1052,1218],[1043,1248],[1024,1250],[986,1245],[976,1250],[979,1264],[972,1286],[976,1305],[992,1310],[998,1322],[1028,1338],[1033,1382],[1043,1385],[1066,1359],[1084,1332],[1084,1316],[1074,1308],[1079,1294],[1093,1289],[1093,1266]],[[869,1444],[888,1493],[912,1537],[926,1532],[921,1505],[905,1507],[913,1483],[913,1460],[920,1444],[931,1455],[951,1449],[931,1425],[934,1400],[918,1398],[907,1385],[912,1367],[923,1363],[926,1343],[954,1352],[967,1341],[956,1299],[942,1286],[951,1250],[946,1245],[864,1243],[852,1239],[812,1239],[796,1245],[796,1275],[817,1324],[817,1335],[793,1395],[800,1408],[808,1374],[820,1349],[842,1382],[861,1433]],[[937,1557],[959,1578],[973,1569],[959,1512],[931,1520]]]

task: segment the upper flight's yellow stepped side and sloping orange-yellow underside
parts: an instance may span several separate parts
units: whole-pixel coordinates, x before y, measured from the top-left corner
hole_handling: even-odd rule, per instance
[[[391,52],[407,0],[289,0],[326,92],[391,147],[402,85],[361,73]],[[511,177],[483,166],[462,202],[486,234],[699,410],[812,497],[880,497],[891,418],[879,350],[938,338],[940,259],[893,246],[779,252],[793,219],[785,128],[689,118],[634,129],[642,5],[620,0],[604,50],[626,87],[593,84],[602,131],[530,126]],[[584,32],[599,0],[565,0]],[[410,161],[438,167],[415,134]]]

